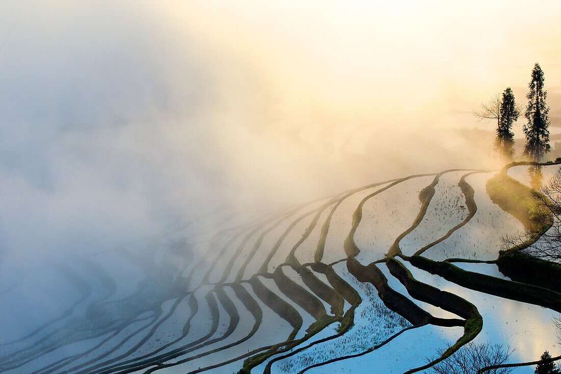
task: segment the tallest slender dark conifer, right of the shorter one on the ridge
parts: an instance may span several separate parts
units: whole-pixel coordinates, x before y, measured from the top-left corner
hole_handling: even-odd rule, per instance
[[[534,161],[541,161],[549,152],[549,108],[545,103],[547,92],[544,90],[544,72],[536,62],[532,70],[532,80],[528,84],[530,92],[526,95],[528,106],[525,117],[528,123],[524,125],[526,145],[524,154]]]

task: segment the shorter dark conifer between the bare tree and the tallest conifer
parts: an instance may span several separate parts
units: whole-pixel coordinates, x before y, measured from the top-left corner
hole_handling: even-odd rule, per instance
[[[512,125],[516,120],[520,111],[516,105],[516,99],[512,89],[508,87],[503,92],[500,101],[500,116],[498,118],[498,127],[496,129],[495,149],[506,158],[512,158],[514,154],[514,133]]]

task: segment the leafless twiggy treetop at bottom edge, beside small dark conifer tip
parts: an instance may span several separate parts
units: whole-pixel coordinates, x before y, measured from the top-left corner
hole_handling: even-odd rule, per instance
[[[475,344],[470,342],[458,349],[453,355],[436,363],[429,369],[429,372],[435,374],[476,374],[484,367],[504,364],[508,361],[512,352],[514,350],[509,347],[504,350],[501,344],[491,344],[489,342]],[[443,353],[444,349],[436,350],[438,356]],[[427,358],[427,361],[432,362],[434,359],[434,357]],[[511,367],[496,368],[488,371],[488,373],[509,374],[513,370],[514,368]]]

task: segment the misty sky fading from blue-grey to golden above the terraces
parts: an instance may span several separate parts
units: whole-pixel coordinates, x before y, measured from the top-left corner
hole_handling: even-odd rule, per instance
[[[561,117],[560,16],[558,1],[4,0],[0,256],[499,167],[471,112],[507,86],[522,101],[539,62]]]

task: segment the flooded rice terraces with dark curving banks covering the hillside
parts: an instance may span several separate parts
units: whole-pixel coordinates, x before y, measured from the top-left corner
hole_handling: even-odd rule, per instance
[[[413,373],[472,340],[511,345],[513,362],[558,355],[559,278],[518,250],[499,253],[525,221],[493,186],[528,193],[522,167],[215,213],[6,277],[0,372]]]

